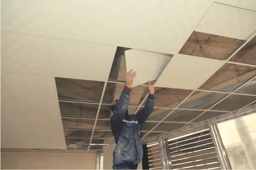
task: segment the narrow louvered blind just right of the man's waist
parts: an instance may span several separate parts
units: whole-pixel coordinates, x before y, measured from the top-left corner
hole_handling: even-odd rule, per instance
[[[148,148],[148,164],[150,170],[161,170],[162,160],[160,156],[159,144],[151,144],[147,146]]]

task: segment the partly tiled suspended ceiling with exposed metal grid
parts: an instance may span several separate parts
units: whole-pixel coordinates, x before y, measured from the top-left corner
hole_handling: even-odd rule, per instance
[[[1,148],[102,150],[131,48],[142,77],[149,51],[172,56],[143,138],[254,104],[254,3],[2,0]],[[146,95],[134,87],[128,111]]]

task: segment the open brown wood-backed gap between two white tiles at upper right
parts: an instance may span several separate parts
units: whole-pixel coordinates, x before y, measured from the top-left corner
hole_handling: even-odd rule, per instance
[[[244,40],[194,31],[179,53],[226,59],[242,43],[244,43]]]

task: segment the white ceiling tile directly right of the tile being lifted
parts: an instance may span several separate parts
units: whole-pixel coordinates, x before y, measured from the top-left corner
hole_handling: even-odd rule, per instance
[[[176,54],[156,81],[155,86],[198,89],[224,63],[224,61],[216,59]]]

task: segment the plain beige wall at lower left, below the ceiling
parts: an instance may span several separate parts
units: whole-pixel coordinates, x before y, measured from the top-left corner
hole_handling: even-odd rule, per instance
[[[1,153],[1,169],[96,169],[96,154]]]

